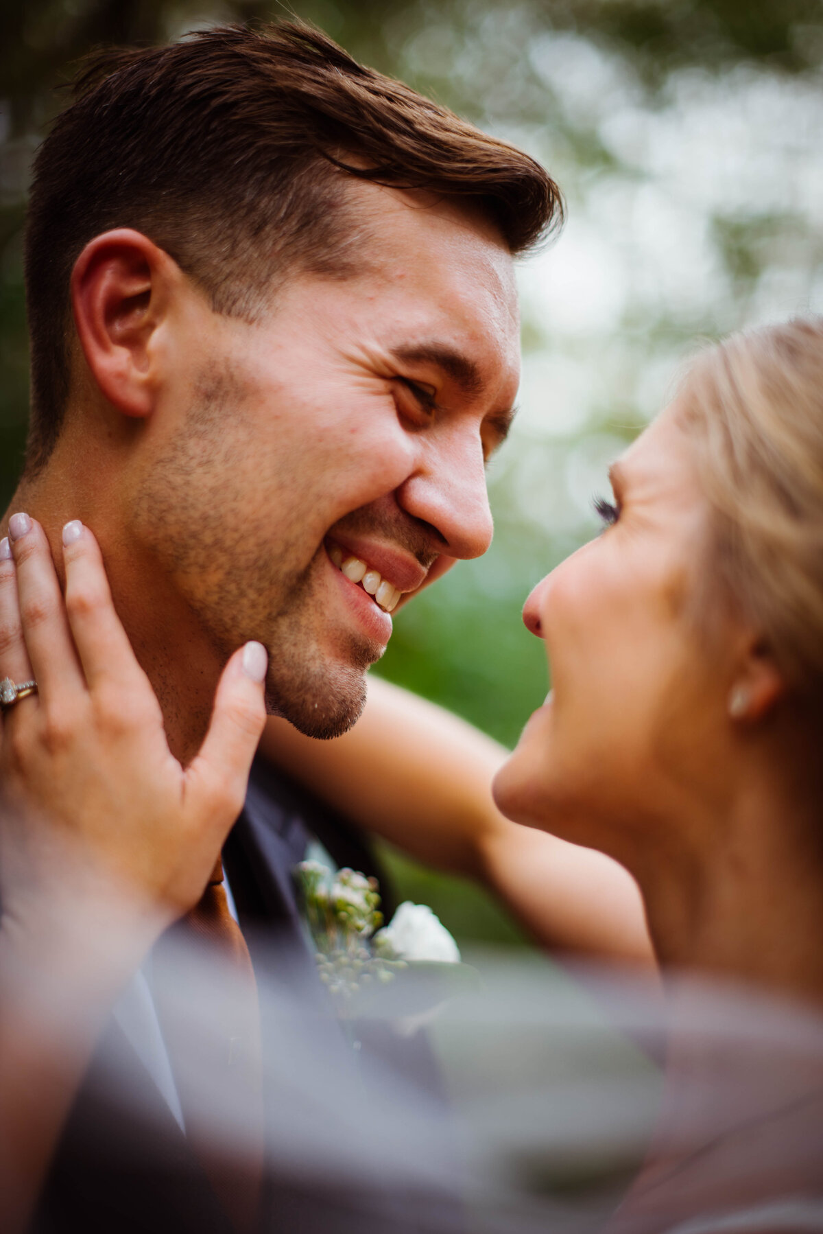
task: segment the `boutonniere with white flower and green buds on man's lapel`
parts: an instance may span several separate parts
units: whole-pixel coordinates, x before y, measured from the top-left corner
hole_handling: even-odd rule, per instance
[[[415,1014],[476,987],[475,970],[460,963],[454,938],[426,905],[406,901],[384,926],[376,879],[333,874],[320,861],[301,861],[294,874],[320,980],[342,1014]]]

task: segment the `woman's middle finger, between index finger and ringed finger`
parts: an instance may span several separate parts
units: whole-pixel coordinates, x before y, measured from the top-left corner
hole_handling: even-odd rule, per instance
[[[28,515],[12,515],[9,539],[17,568],[23,638],[41,698],[58,700],[85,682],[65,616],[46,533]]]

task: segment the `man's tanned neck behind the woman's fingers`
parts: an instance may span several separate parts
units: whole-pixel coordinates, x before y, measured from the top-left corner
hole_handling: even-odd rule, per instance
[[[42,524],[60,585],[64,523],[79,518],[94,532],[115,608],[160,703],[169,748],[189,763],[209,728],[222,664],[190,606],[130,534],[114,478],[78,478],[56,450],[35,479],[21,481],[5,521],[17,510]]]

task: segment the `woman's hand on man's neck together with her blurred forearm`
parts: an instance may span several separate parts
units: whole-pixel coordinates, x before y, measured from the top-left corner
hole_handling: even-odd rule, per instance
[[[267,654],[248,643],[231,658],[184,769],[91,532],[63,531],[65,601],[38,523],[14,515],[10,533],[0,679],[38,685],[0,721],[0,1193],[16,1234],[110,1007],[199,900],[242,807]]]

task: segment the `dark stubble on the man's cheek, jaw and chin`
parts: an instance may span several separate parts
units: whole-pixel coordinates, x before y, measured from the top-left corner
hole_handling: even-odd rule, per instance
[[[180,432],[133,494],[133,529],[221,663],[248,639],[268,648],[269,713],[308,737],[339,737],[365,705],[374,648],[341,633],[333,658],[323,652],[326,550],[320,544],[306,563],[301,537],[312,478],[247,431],[238,412],[246,396],[230,364],[209,364]],[[276,520],[249,500],[244,479],[279,495]]]

